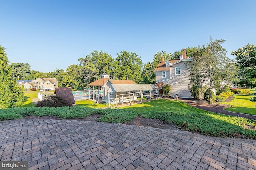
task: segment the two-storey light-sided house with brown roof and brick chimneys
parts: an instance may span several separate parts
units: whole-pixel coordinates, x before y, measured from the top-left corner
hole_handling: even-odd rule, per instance
[[[186,67],[188,61],[191,61],[191,58],[186,57],[186,49],[183,49],[179,60],[164,61],[164,57],[162,57],[161,62],[154,70],[156,83],[163,82],[171,85],[170,96],[172,97],[178,94],[182,98],[193,98],[189,90],[190,72]]]

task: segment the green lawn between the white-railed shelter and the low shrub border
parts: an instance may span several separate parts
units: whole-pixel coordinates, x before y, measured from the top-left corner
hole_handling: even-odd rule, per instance
[[[135,109],[139,113],[143,113],[145,111],[183,111],[183,112],[200,112],[200,113],[211,113],[209,111],[205,111],[202,109],[197,109],[195,107],[190,106],[184,102],[180,102],[178,100],[163,100],[157,99],[151,102],[144,102],[142,104],[136,104],[132,106],[125,106],[122,109]]]

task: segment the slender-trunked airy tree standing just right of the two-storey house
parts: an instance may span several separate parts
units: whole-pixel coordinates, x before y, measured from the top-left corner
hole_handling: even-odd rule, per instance
[[[188,62],[191,84],[203,86],[205,82],[209,82],[209,104],[213,103],[213,88],[217,87],[225,77],[232,76],[225,74],[228,71],[223,72],[230,63],[230,59],[226,57],[227,50],[221,46],[225,41],[224,39],[213,41],[210,37],[210,43],[202,47],[198,45],[198,48],[192,53],[193,60]]]

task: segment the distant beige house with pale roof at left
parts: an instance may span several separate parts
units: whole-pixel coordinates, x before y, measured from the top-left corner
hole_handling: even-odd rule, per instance
[[[24,84],[25,89],[51,89],[55,90],[58,87],[58,81],[56,78],[37,78],[31,82],[26,82]]]

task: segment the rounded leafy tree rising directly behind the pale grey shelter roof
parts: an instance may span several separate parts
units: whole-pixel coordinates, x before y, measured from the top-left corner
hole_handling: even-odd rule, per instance
[[[136,53],[121,51],[115,59],[114,77],[122,80],[133,80],[136,83],[142,82],[142,60]]]

